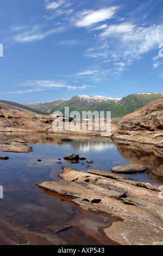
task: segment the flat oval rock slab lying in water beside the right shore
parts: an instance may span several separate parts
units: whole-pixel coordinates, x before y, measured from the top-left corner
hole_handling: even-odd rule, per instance
[[[119,174],[140,174],[146,172],[146,167],[140,164],[123,164],[111,168],[111,172]]]

